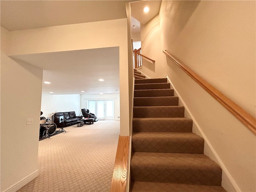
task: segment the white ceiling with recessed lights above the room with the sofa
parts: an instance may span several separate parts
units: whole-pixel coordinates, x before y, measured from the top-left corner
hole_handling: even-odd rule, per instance
[[[25,54],[12,58],[44,69],[43,82],[51,82],[43,84],[44,94],[119,93],[118,47]]]

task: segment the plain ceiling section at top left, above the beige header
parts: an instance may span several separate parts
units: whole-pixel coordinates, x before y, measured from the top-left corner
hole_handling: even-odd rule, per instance
[[[127,0],[1,0],[9,31],[126,18]]]

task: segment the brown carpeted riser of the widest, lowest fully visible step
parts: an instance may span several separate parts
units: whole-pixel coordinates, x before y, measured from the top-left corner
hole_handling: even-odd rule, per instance
[[[189,178],[189,180],[187,180],[187,178]],[[215,179],[212,180],[212,178]],[[134,165],[131,163],[132,181],[221,186],[221,178],[222,170],[220,168],[215,170],[201,168],[200,171],[198,171],[198,168],[193,166],[176,168],[172,167],[172,165],[166,167],[159,164],[149,164],[147,169],[145,169],[139,166],[134,168]]]

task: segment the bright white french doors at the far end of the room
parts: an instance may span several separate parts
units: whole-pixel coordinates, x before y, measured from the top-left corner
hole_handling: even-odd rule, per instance
[[[87,106],[98,120],[114,120],[114,100],[88,100]]]

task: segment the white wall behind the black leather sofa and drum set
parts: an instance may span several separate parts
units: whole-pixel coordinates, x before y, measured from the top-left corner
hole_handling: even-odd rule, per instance
[[[53,112],[75,111],[76,115],[81,114],[80,94],[71,95],[50,95],[42,94],[41,111],[43,117],[48,117]]]

